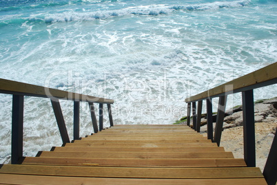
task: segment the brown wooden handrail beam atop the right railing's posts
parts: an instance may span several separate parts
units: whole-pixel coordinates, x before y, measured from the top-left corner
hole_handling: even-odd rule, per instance
[[[195,102],[198,100],[205,100],[207,98],[214,98],[223,94],[233,94],[247,89],[255,89],[266,85],[277,83],[277,63],[258,69],[255,72],[236,78],[213,89],[202,92],[195,96],[185,99],[185,102]]]

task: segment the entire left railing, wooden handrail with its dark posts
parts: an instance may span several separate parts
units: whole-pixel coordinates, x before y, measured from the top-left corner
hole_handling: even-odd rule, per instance
[[[103,129],[103,104],[107,105],[109,113],[110,126],[114,126],[112,120],[111,104],[114,100],[98,98],[94,96],[86,96],[83,94],[76,94],[69,91],[61,91],[58,89],[50,89],[48,87],[41,87],[37,85],[30,85],[26,83],[19,83],[12,80],[5,80],[0,78],[0,93],[12,94],[12,164],[17,164],[23,157],[23,107],[24,96],[34,96],[41,98],[50,98],[54,115],[57,120],[61,139],[63,144],[70,142],[68,131],[65,127],[63,113],[59,100],[74,101],[74,118],[73,118],[73,138],[79,140],[79,111],[80,102],[88,102],[90,107],[90,114],[92,118],[92,126],[94,133]],[[97,125],[96,113],[94,110],[94,103],[99,103],[99,128]]]

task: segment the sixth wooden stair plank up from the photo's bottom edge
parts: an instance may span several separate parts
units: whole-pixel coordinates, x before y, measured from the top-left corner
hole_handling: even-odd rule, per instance
[[[66,147],[97,147],[97,146],[105,146],[105,147],[188,147],[188,146],[217,146],[216,143],[213,142],[179,142],[179,143],[94,143],[94,142],[75,142],[74,143],[66,143]]]

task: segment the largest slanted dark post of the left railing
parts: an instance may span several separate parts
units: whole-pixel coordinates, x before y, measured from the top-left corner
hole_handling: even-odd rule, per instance
[[[61,111],[60,102],[58,99],[51,99],[51,103],[57,120],[59,131],[61,133],[61,140],[63,140],[63,144],[66,142],[70,142],[68,131],[65,127],[65,120],[63,119],[63,113]]]

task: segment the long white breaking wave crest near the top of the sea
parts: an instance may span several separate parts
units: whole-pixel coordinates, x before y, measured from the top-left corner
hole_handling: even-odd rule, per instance
[[[96,2],[94,0],[82,0],[81,2],[89,1],[90,3]],[[22,23],[22,21],[34,22],[44,21],[45,23],[54,22],[68,22],[68,21],[93,21],[95,19],[108,19],[111,17],[121,17],[126,15],[141,15],[141,16],[158,16],[169,14],[174,11],[203,11],[203,10],[216,10],[218,8],[238,8],[247,6],[250,3],[249,0],[241,1],[216,1],[214,3],[203,3],[190,6],[166,6],[166,5],[151,5],[151,6],[137,6],[124,8],[120,10],[99,10],[97,12],[63,12],[57,14],[38,14],[32,15],[32,17],[23,18],[21,21],[12,21],[13,23]],[[41,5],[45,6],[45,5]],[[57,6],[52,4],[51,6]],[[13,9],[13,8],[12,8]],[[4,10],[4,9],[2,9]],[[1,11],[1,10],[0,10]],[[7,23],[7,21],[5,21]],[[8,21],[10,22],[10,21]]]

